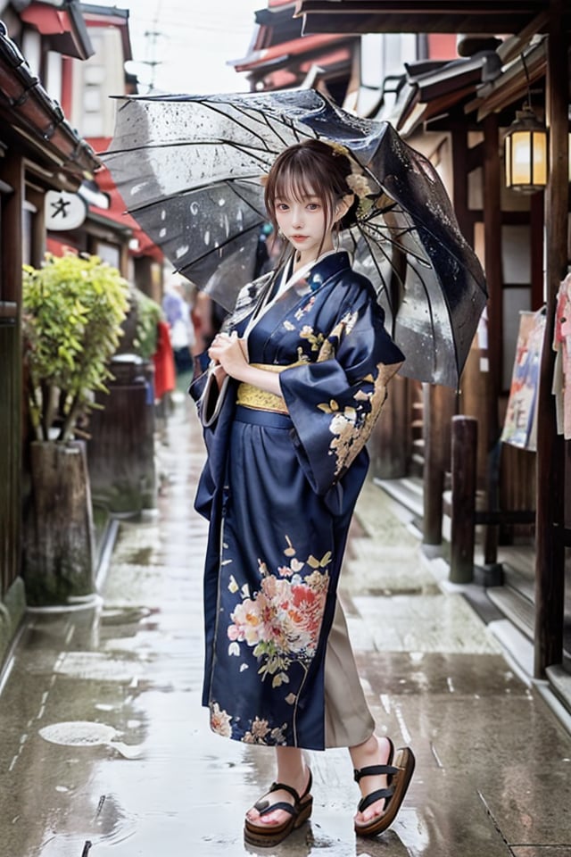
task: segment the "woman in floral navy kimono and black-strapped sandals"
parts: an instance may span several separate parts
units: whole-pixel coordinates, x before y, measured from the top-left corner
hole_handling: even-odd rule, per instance
[[[414,769],[408,748],[393,766],[375,735],[335,595],[365,442],[403,360],[373,287],[335,250],[367,193],[343,146],[277,157],[265,203],[291,253],[239,295],[191,391],[209,452],[196,497],[210,520],[203,703],[214,731],[277,753],[277,782],[246,815],[254,845],[309,819],[303,748],[349,747],[362,836],[388,827]]]

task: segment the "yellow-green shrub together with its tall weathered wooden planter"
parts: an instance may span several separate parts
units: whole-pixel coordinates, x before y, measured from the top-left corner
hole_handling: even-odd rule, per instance
[[[68,604],[95,591],[85,444],[95,393],[128,310],[128,284],[97,256],[46,255],[24,267],[22,316],[30,444],[24,578],[29,603]]]

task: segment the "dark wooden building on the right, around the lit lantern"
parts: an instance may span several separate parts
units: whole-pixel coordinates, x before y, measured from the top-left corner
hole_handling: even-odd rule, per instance
[[[459,40],[467,57],[455,66],[407,66],[392,109],[377,112],[378,118],[392,121],[413,146],[440,165],[460,227],[484,262],[490,293],[487,318],[468,361],[461,395],[451,399],[442,389],[424,390],[425,541],[439,541],[443,512],[454,513],[453,493],[448,508],[445,502],[451,461],[446,427],[454,413],[473,415],[479,437],[475,487],[480,509],[471,514],[468,524],[472,528],[475,520],[484,524],[482,579],[484,584],[500,582],[492,577],[486,580],[486,572],[497,568],[498,558],[508,558],[504,587],[488,592],[509,615],[514,634],[529,647],[525,670],[539,679],[537,686],[548,702],[554,707],[562,702],[571,710],[569,444],[557,432],[551,394],[556,295],[571,258],[571,9],[563,0],[547,4],[542,0],[441,4],[298,0],[296,12],[307,37],[338,30],[355,35],[463,34]],[[381,81],[379,85],[383,86]],[[544,192],[517,196],[504,179],[503,139],[530,96],[534,112],[549,132],[549,172]],[[533,451],[501,444],[500,438],[519,312],[541,307],[546,321]],[[403,453],[400,440],[394,452],[406,468],[414,449],[414,439],[410,440],[414,421],[410,415],[402,417],[407,396],[402,394],[401,400],[400,411],[395,404],[394,420],[397,425],[404,420],[410,427],[405,432],[409,448]],[[390,439],[387,443],[391,453]],[[523,551],[516,550],[517,536],[524,543]],[[509,550],[502,550],[502,541],[509,540]]]

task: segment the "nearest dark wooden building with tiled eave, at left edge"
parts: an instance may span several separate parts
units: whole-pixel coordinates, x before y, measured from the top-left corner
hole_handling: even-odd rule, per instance
[[[76,10],[66,4],[65,49],[88,55]],[[0,655],[24,608],[21,562],[21,270],[37,264],[46,245],[45,200],[52,190],[75,193],[99,162],[65,119],[9,32],[21,19],[4,9],[0,24]],[[29,42],[31,45],[32,43]],[[57,50],[58,40],[50,42]]]

